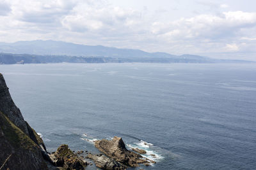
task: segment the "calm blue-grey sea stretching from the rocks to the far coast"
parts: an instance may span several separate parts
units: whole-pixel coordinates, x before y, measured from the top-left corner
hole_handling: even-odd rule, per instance
[[[156,160],[143,169],[256,169],[256,64],[25,64],[0,73],[51,152],[67,143],[97,153],[93,140],[119,136]]]

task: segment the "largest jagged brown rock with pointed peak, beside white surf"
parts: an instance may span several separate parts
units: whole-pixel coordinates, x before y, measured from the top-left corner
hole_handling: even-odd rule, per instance
[[[139,164],[149,163],[140,154],[127,150],[122,138],[116,136],[111,141],[107,139],[95,141],[95,147],[125,166],[138,167]]]

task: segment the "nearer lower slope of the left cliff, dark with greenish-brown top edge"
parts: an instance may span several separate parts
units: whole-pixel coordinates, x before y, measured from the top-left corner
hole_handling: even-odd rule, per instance
[[[0,162],[3,169],[48,169],[40,147],[1,111]]]

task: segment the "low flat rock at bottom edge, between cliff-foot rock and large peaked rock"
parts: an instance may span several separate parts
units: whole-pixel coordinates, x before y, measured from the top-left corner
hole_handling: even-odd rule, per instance
[[[107,169],[107,170],[123,170],[123,169],[125,169],[125,166],[123,166],[119,162],[116,162],[115,160],[110,159],[104,155],[88,154],[86,156],[86,158],[92,159],[95,163],[95,166],[97,166],[101,169]]]

